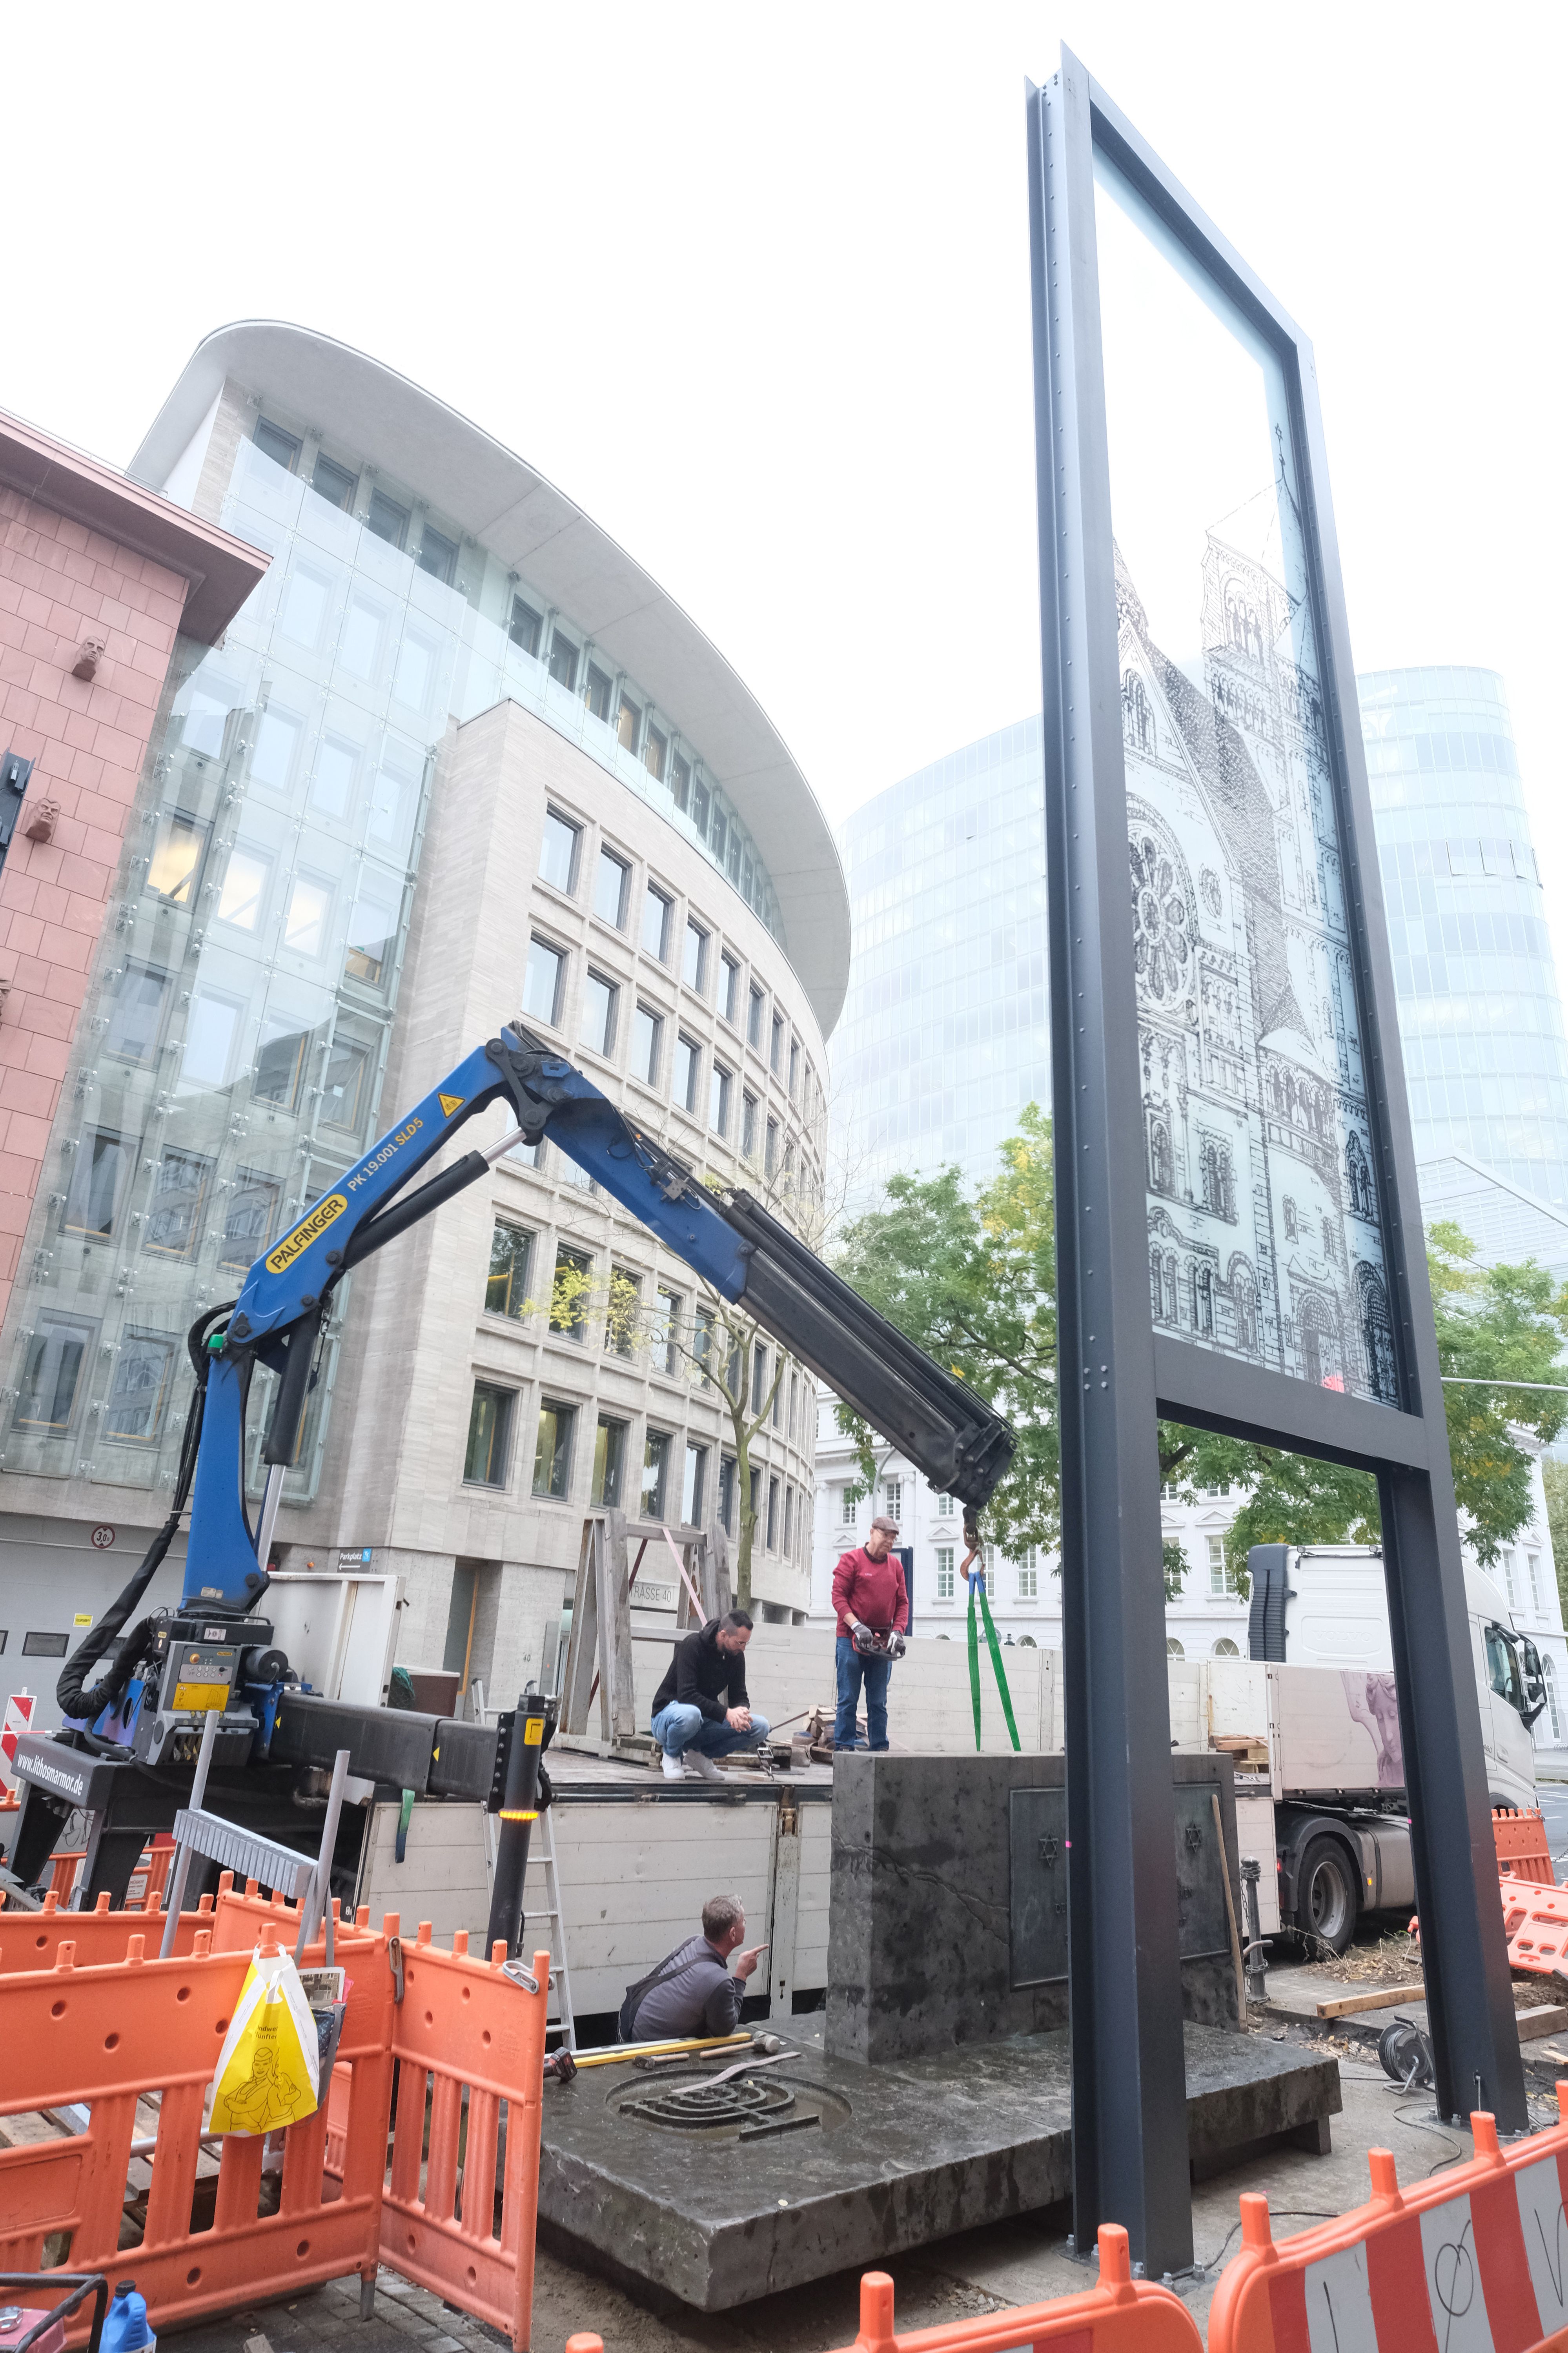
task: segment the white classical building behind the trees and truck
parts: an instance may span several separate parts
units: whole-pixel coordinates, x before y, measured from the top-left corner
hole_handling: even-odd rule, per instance
[[[833,1400],[817,1398],[817,1525],[812,1541],[812,1624],[831,1617],[833,1567],[852,1546],[866,1541],[878,1513],[899,1522],[899,1546],[911,1560],[911,1602],[916,1640],[965,1640],[968,1593],[958,1577],[963,1560],[963,1522],[951,1497],[935,1494],[928,1480],[899,1454],[878,1452],[876,1492],[862,1487],[862,1471],[848,1438],[833,1419]],[[1224,1567],[1224,1537],[1236,1518],[1231,1494],[1201,1494],[1194,1504],[1161,1497],[1161,1529],[1187,1555],[1182,1591],[1165,1607],[1165,1647],[1172,1659],[1248,1657],[1248,1602],[1234,1591]],[[1469,1551],[1467,1551],[1467,1558]],[[1535,1722],[1537,1748],[1568,1746],[1568,1638],[1556,1591],[1552,1532],[1540,1459],[1530,1475],[1530,1522],[1504,1548],[1490,1572],[1509,1600],[1514,1626],[1528,1633],[1547,1668],[1547,1706]],[[996,1548],[986,1558],[986,1595],[1003,1645],[1062,1647],[1062,1586],[1055,1553],[1031,1553],[1005,1560]]]

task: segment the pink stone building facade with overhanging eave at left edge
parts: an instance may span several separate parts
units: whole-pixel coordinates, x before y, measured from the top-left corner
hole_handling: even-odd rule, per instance
[[[266,562],[0,414],[0,1318],[177,640],[219,642]]]

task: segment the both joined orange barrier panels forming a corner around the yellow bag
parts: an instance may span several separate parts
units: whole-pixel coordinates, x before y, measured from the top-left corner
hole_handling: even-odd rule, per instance
[[[254,1880],[240,1894],[224,1873],[217,1906],[181,1915],[191,1951],[170,1960],[146,1955],[153,1927],[134,1913],[45,1904],[5,1927],[5,2108],[78,2113],[85,2127],[0,2148],[0,2268],[38,2271],[54,2240],[73,2271],[134,2271],[162,2329],[348,2271],[370,2294],[384,2261],[525,2353],[549,1953],[534,1955],[530,1993],[504,1946],[490,1962],[466,1937],[443,1953],[421,1922],[405,1953],[396,1913],[379,1932],[348,1915],[334,1932],[348,2007],[315,2115],[266,2141],[207,2134],[205,2155],[202,2099],[250,1955],[292,1951],[297,1906],[264,1901]],[[78,1937],[104,1958],[82,1962]],[[323,1960],[318,1939],[304,1967]],[[278,2141],[283,2179],[268,2184]],[[132,2165],[151,2167],[141,2195]],[[127,2217],[139,2242],[125,2240]],[[85,2337],[73,2322],[68,2341]]]

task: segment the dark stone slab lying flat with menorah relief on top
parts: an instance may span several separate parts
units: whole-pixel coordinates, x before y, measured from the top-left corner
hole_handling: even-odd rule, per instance
[[[725,2120],[662,2120],[671,2092],[718,2073],[624,2061],[546,2085],[539,2224],[556,2252],[727,2311],[1069,2195],[1064,2031],[876,2068],[800,2049],[732,2078],[746,2089]],[[1330,2057],[1187,2026],[1198,2172],[1283,2132],[1316,2127],[1326,2148],[1337,2113]]]

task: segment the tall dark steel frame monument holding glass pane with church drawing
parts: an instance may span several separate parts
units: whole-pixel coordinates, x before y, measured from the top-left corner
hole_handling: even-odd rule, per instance
[[[1311,346],[1029,87],[1074,2228],[1191,2264],[1161,1414],[1377,1475],[1446,2115],[1526,2127]]]

